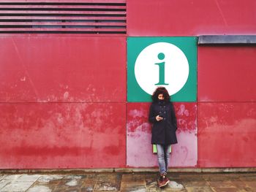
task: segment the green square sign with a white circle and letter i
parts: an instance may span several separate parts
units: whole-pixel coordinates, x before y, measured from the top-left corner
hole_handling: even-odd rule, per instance
[[[197,37],[127,38],[127,100],[151,101],[159,86],[172,101],[196,101]]]

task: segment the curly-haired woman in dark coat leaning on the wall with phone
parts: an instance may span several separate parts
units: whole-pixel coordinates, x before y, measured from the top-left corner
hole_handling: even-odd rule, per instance
[[[152,100],[149,111],[149,121],[153,123],[151,144],[157,145],[160,172],[158,185],[163,187],[170,182],[166,175],[170,159],[170,145],[177,143],[177,120],[166,88],[157,88],[152,95]]]

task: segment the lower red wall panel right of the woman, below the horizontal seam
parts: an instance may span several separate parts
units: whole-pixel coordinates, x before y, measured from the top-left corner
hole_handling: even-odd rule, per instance
[[[255,167],[255,147],[255,102],[198,104],[200,167]]]

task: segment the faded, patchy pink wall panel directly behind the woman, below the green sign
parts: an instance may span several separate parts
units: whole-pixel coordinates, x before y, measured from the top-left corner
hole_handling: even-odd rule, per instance
[[[152,153],[148,103],[127,104],[127,166],[158,166]],[[197,107],[195,103],[175,103],[178,144],[173,145],[170,166],[197,166]]]

